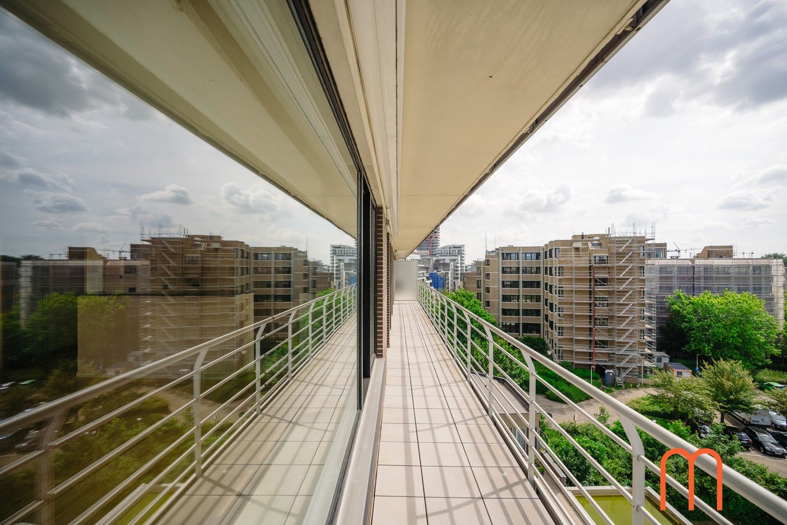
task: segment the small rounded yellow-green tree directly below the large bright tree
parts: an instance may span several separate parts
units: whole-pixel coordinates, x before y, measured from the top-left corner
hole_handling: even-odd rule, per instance
[[[756,387],[741,361],[720,359],[706,364],[700,380],[708,386],[711,399],[719,405],[722,423],[726,412],[748,413],[755,409]]]

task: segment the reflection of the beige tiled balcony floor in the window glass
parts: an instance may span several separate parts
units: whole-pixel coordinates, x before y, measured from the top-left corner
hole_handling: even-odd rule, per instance
[[[279,525],[327,515],[356,413],[356,324],[347,320],[160,523]]]

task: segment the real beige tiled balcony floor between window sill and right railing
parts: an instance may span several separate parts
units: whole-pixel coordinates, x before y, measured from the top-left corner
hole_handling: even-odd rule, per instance
[[[552,523],[416,301],[393,307],[372,525]]]

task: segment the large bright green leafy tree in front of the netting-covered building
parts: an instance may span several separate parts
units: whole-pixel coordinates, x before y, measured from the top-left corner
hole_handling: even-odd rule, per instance
[[[740,360],[749,369],[778,354],[778,324],[753,294],[704,291],[692,297],[676,290],[667,297],[667,310],[671,323],[685,334],[687,353]]]

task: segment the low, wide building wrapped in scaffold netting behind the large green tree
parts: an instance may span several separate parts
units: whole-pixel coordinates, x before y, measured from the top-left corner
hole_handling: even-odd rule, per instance
[[[765,309],[785,320],[785,267],[781,259],[733,257],[732,245],[705,246],[689,259],[652,259],[645,265],[646,313],[656,328],[667,322],[666,298],[675,290],[699,295],[708,290],[748,292],[762,299]]]

